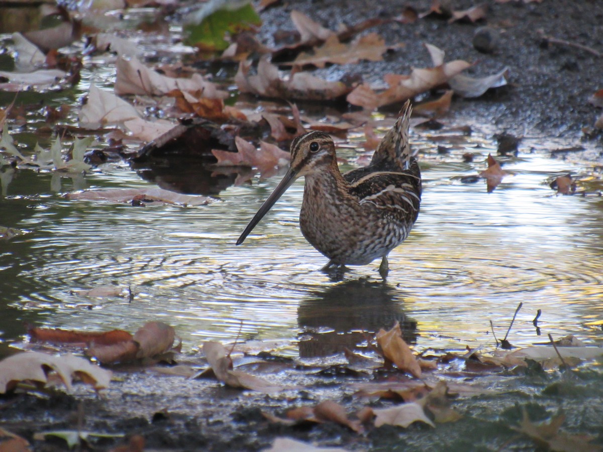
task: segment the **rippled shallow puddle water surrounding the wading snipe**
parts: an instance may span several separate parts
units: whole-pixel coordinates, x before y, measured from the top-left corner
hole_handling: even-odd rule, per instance
[[[567,172],[587,174],[588,165],[550,159],[538,142],[529,154],[502,159],[515,175],[488,194],[483,181],[459,179],[485,168],[496,151],[490,140],[479,133],[437,140],[461,142],[438,155],[431,135],[412,136],[423,202],[411,236],[390,254],[387,283],[378,262],[353,267],[340,281],[320,272],[326,258],[297,225],[303,181],[235,246],[278,176],[230,186],[203,207],[132,207],[60,196],[84,187],[154,186],[125,165],[62,178],[60,189],[51,174],[18,171],[0,200],[0,224],[30,232],[0,243],[2,339],[24,334],[23,321],[135,331],[159,320],[174,325],[185,350],[206,339],[233,341],[241,330],[244,339],[300,338],[291,353],[317,356],[361,344],[362,331],[399,319],[420,350],[464,348],[494,344],[490,321],[504,337],[522,302],[512,344],[547,342],[547,333],[600,343],[603,199],[556,196],[548,186]],[[475,163],[459,163],[467,151],[479,154]],[[72,292],[104,285],[122,287],[124,296]],[[539,309],[541,335],[532,324]]]

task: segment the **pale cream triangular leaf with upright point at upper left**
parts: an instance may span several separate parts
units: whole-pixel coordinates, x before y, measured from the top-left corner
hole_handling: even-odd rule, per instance
[[[123,124],[139,119],[136,108],[113,93],[98,89],[91,84],[86,103],[80,110],[80,127],[96,130],[106,125]]]

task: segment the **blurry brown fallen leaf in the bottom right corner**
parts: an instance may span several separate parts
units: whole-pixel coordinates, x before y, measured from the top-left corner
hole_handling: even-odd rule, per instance
[[[602,450],[601,446],[590,444],[593,438],[586,435],[567,435],[559,431],[566,416],[557,415],[551,419],[549,424],[534,424],[526,410],[523,410],[523,419],[518,427],[513,430],[529,436],[538,446],[546,447],[557,452],[595,452]]]

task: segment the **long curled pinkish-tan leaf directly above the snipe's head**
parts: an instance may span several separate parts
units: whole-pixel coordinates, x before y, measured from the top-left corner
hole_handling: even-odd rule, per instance
[[[241,61],[235,75],[235,83],[244,93],[271,98],[328,100],[350,92],[341,81],[323,80],[308,72],[294,72],[289,78],[280,78],[278,68],[267,57],[260,58],[256,75],[250,75],[250,67],[251,61]]]

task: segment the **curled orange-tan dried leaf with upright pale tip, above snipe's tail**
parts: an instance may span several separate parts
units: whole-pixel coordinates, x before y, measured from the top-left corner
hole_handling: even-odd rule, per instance
[[[356,87],[349,95],[347,101],[353,105],[374,109],[383,105],[403,102],[419,93],[433,89],[450,78],[459,74],[470,63],[463,60],[449,61],[444,63],[444,52],[431,44],[426,44],[435,67],[428,69],[412,69],[410,75],[389,74],[384,77],[390,88],[384,92],[377,93],[367,84]]]

